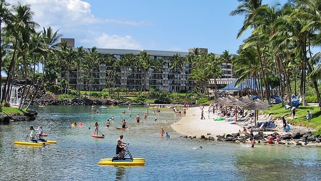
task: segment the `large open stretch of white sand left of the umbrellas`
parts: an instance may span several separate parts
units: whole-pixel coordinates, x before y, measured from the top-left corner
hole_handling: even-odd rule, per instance
[[[214,138],[216,138],[216,135],[223,135],[223,133],[238,133],[239,129],[241,129],[239,125],[230,124],[228,121],[214,121],[218,116],[213,115],[212,112],[208,113],[207,111],[208,107],[205,107],[205,120],[200,120],[201,110],[199,107],[189,108],[186,111],[186,116],[183,116],[180,121],[175,122],[171,126],[176,132],[187,136],[200,137],[201,135],[204,135],[208,137],[209,135],[207,135],[207,133],[211,133],[210,136],[213,136]]]

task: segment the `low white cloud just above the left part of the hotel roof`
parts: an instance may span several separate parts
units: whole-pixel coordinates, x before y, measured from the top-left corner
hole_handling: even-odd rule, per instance
[[[81,40],[84,44],[95,45],[97,48],[112,48],[112,49],[140,49],[139,43],[132,39],[130,36],[109,36],[103,33],[94,39]]]

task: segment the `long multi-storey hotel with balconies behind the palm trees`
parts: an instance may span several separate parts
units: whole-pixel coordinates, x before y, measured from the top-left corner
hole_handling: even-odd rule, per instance
[[[73,39],[66,39],[69,45],[74,45]],[[62,39],[61,41],[66,41]],[[73,40],[73,41],[72,41]],[[71,41],[71,43],[70,43]],[[76,50],[76,49],[75,49]],[[88,50],[88,48],[84,48],[84,50]],[[201,52],[206,51],[207,49],[199,49]],[[138,55],[141,50],[125,50],[125,49],[96,49],[97,52],[103,55],[114,55],[117,59],[120,59],[122,56],[126,54]],[[158,51],[158,50],[145,50],[154,60],[162,59],[164,60],[164,65],[162,71],[154,72],[153,69],[148,70],[147,80],[146,80],[146,88],[154,88],[158,90],[170,90],[170,91],[191,91],[193,87],[193,79],[188,78],[191,74],[191,65],[185,64],[183,67],[173,72],[170,69],[170,59],[174,57],[177,53],[185,58],[189,52],[193,52],[193,49],[190,49],[189,52],[175,52],[175,51]],[[98,69],[93,71],[94,81],[92,83],[91,89],[94,91],[101,91],[106,87],[106,70],[110,65],[100,64]],[[228,67],[225,67],[226,64],[222,63],[222,71],[223,76],[221,78],[234,78],[232,73],[232,64],[228,63]],[[115,84],[115,87],[119,87],[120,89],[129,88],[139,90],[144,81],[143,71],[139,69],[132,69],[131,67],[121,67],[119,73],[119,81]],[[66,75],[62,75],[62,77],[67,77]],[[77,72],[73,70],[69,74],[69,86],[70,88],[76,89],[76,86],[79,86],[80,90],[85,90],[86,82],[81,79],[81,72]],[[60,84],[61,77],[58,77],[57,84]]]

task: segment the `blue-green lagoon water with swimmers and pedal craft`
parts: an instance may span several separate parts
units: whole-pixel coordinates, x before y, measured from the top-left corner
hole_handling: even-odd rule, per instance
[[[38,111],[35,121],[0,124],[0,180],[16,181],[204,181],[204,180],[321,180],[321,147],[263,145],[254,148],[247,143],[226,143],[182,138],[173,131],[171,123],[179,116],[171,110],[161,113],[147,107],[132,106],[103,110],[89,114],[90,106],[46,106]],[[126,114],[121,112],[126,110]],[[140,115],[140,123],[135,116]],[[121,116],[122,115],[122,116]],[[129,115],[132,115],[129,118]],[[105,121],[115,116],[110,128]],[[128,130],[121,127],[121,117],[127,120]],[[153,121],[155,118],[158,121]],[[84,126],[71,126],[83,121]],[[104,139],[90,136],[93,124],[99,123]],[[14,145],[24,140],[25,128],[44,126],[48,140],[57,145],[32,147]],[[91,129],[88,129],[91,127]],[[170,139],[160,136],[160,128],[170,132]],[[116,140],[120,134],[129,142],[133,157],[145,158],[145,166],[98,166],[101,158],[115,156]],[[191,147],[203,149],[192,150]]]

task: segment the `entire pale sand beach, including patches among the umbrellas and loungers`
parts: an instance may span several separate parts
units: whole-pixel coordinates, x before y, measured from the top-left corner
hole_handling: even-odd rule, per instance
[[[235,124],[231,124],[231,121],[214,121],[214,119],[220,118],[220,116],[213,114],[212,112],[208,112],[208,106],[204,107],[204,117],[205,120],[201,120],[201,109],[199,107],[189,108],[186,112],[186,116],[182,117],[180,121],[173,123],[172,128],[180,133],[187,136],[196,136],[199,138],[201,135],[208,137],[207,133],[210,133],[210,136],[213,136],[216,139],[216,135],[231,134],[238,133],[239,130],[243,129],[242,121],[238,121]],[[258,120],[262,120],[264,117],[260,115]],[[235,118],[231,118],[235,119]],[[267,121],[267,120],[265,120]],[[304,126],[294,126],[291,125],[291,130],[289,132],[284,132],[282,129],[282,121],[275,120],[278,125],[277,131],[264,131],[265,134],[270,134],[273,132],[278,132],[280,135],[293,133],[293,132],[308,132],[315,131],[313,128],[308,128]],[[256,132],[257,133],[257,132]],[[255,133],[255,134],[256,134]]]

